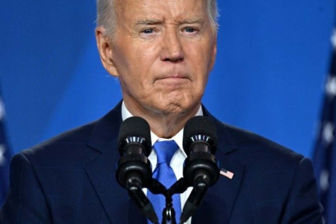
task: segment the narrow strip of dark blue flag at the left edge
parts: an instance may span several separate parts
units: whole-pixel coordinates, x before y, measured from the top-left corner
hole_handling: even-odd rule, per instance
[[[4,116],[4,106],[0,93],[0,207],[9,185],[9,160],[11,156],[4,131]]]

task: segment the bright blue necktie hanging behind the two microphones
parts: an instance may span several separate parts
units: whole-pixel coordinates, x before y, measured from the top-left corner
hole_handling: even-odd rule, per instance
[[[176,176],[173,169],[170,167],[170,161],[179,149],[179,146],[174,140],[157,141],[153,148],[157,155],[157,164],[153,172],[153,178],[161,182],[167,189],[169,189],[175,182]],[[147,192],[147,197],[151,201],[154,210],[159,218],[159,223],[162,221],[162,211],[166,207],[166,198],[163,195],[153,195],[150,191]],[[179,223],[181,216],[181,200],[180,195],[173,195],[173,208],[176,214],[176,222]],[[148,220],[148,224],[151,222]]]

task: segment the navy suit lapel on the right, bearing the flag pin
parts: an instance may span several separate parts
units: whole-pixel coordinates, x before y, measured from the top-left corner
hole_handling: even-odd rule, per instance
[[[204,107],[205,116],[212,118],[217,127],[218,149],[216,158],[220,168],[233,173],[232,179],[220,175],[218,182],[209,188],[192,224],[225,224],[230,219],[236,196],[244,174],[244,166],[235,159],[237,147],[223,123],[212,116]]]

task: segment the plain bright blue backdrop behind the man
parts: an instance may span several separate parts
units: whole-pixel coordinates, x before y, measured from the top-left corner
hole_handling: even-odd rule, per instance
[[[96,49],[94,0],[0,1],[0,83],[18,152],[120,100]],[[218,0],[218,56],[204,96],[222,121],[311,156],[335,1]]]

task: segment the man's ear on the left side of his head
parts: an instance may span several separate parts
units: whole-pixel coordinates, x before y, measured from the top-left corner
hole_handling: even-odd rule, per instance
[[[111,38],[105,35],[105,28],[103,26],[98,26],[96,28],[96,41],[104,68],[110,73],[110,75],[118,77],[114,62],[112,60]]]

